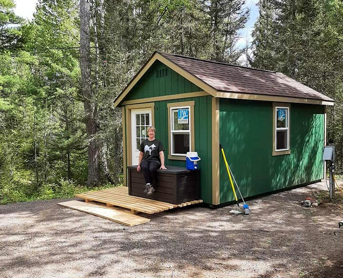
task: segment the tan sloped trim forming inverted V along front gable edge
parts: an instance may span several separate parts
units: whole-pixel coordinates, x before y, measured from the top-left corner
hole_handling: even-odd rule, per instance
[[[168,60],[167,58],[163,57],[158,52],[155,52],[150,59],[145,63],[145,65],[140,69],[140,71],[136,74],[136,76],[131,80],[131,82],[126,86],[126,88],[120,93],[117,99],[114,102],[114,107],[117,107],[120,102],[124,99],[124,97],[130,92],[133,86],[142,78],[144,73],[152,66],[152,64],[156,61],[160,61],[164,63],[166,66],[180,74],[182,77],[186,78],[190,82],[197,85],[199,88],[203,89],[204,91],[208,92],[212,96],[216,95],[217,90],[208,85],[207,83],[203,82],[193,74],[189,73],[188,71],[182,69],[174,62]]]

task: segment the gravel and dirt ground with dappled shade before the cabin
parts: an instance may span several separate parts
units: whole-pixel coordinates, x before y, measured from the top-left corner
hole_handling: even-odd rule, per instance
[[[250,200],[248,216],[193,206],[130,228],[60,199],[0,206],[0,277],[343,277],[342,204],[299,205],[318,189]]]

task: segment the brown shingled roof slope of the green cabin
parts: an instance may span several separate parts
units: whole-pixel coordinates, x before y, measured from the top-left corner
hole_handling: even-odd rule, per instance
[[[166,59],[223,92],[274,95],[333,101],[280,72],[229,65],[159,52]]]

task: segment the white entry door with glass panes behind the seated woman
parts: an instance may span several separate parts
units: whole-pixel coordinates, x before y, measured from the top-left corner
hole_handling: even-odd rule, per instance
[[[149,138],[147,129],[151,125],[150,108],[131,110],[132,165],[138,165],[139,146],[144,139]]]

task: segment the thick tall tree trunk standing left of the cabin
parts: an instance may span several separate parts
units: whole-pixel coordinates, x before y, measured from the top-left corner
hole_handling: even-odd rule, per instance
[[[90,2],[80,0],[80,68],[81,90],[88,141],[88,186],[99,184],[99,144],[97,105],[94,100],[90,63]]]

